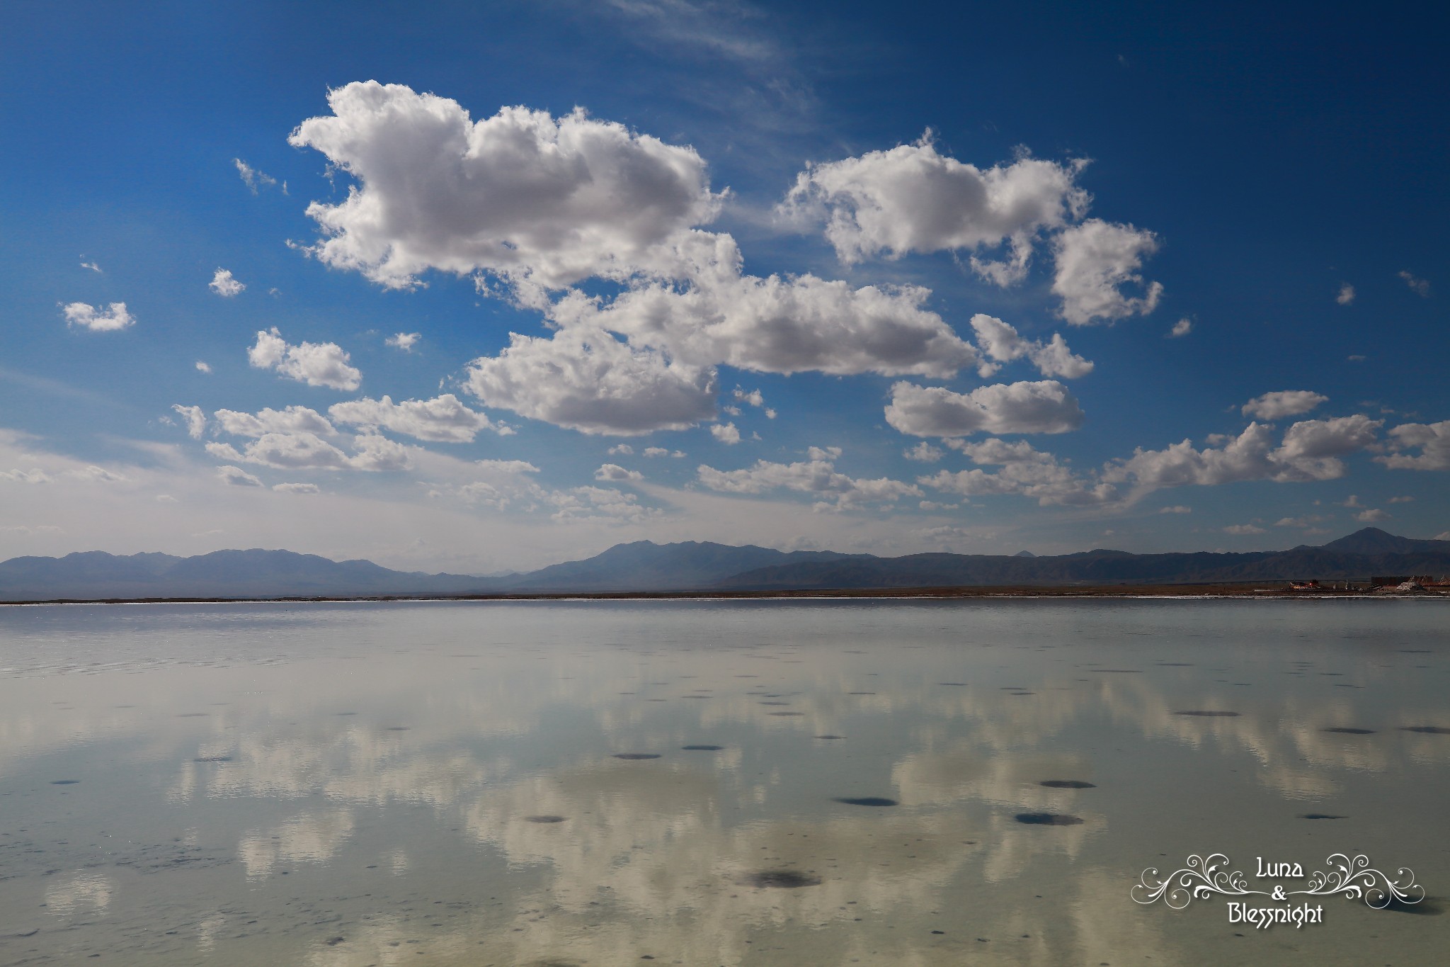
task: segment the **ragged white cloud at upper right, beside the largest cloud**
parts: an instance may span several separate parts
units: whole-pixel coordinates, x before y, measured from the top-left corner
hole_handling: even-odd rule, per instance
[[[999,286],[1021,281],[1032,239],[1082,217],[1089,196],[1074,184],[1085,161],[1018,158],[987,170],[937,152],[928,130],[914,145],[811,165],[780,206],[795,220],[825,219],[825,235],[847,264],[886,254],[995,249],[1005,261],[972,257]]]

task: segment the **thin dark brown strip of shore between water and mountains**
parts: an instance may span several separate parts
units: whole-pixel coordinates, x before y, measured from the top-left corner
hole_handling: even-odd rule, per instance
[[[580,602],[580,600],[974,600],[974,599],[1238,599],[1238,600],[1402,600],[1446,599],[1444,592],[1373,593],[1367,590],[1292,590],[1243,584],[1102,584],[1102,586],[964,586],[790,589],[750,592],[536,592],[499,594],[323,594],[267,597],[55,597],[0,602],[0,606],[41,605],[345,605],[407,602]]]

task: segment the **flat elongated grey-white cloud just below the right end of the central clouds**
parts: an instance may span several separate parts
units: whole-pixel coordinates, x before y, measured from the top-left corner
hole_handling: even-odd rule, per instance
[[[1083,412],[1056,380],[999,383],[972,393],[896,383],[886,422],[912,436],[1066,433],[1082,426]]]

